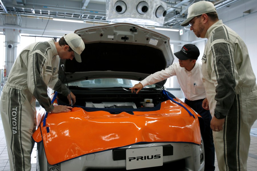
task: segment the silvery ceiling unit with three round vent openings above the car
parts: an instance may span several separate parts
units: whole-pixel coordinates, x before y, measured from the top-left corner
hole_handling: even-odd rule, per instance
[[[167,4],[162,0],[106,0],[106,20],[163,26]]]

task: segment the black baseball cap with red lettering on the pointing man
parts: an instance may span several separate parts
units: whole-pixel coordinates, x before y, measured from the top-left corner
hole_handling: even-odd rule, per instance
[[[185,44],[180,51],[174,53],[180,60],[195,59],[200,55],[199,49],[194,44]]]

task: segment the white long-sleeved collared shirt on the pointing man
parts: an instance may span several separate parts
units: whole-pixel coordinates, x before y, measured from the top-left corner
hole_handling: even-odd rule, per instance
[[[202,64],[196,62],[191,71],[180,67],[179,63],[173,63],[168,68],[149,75],[140,83],[144,86],[157,83],[176,75],[178,83],[188,100],[199,100],[206,98],[202,81]]]

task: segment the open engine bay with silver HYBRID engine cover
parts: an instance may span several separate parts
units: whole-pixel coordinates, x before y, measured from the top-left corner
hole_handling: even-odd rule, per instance
[[[76,106],[89,108],[154,108],[168,100],[162,90],[141,90],[138,94],[119,90],[71,90],[76,96]],[[175,98],[172,94],[169,94]],[[58,94],[59,104],[68,104],[67,97]]]

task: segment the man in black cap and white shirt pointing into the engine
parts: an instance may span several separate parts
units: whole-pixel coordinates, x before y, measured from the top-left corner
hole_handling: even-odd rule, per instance
[[[176,75],[178,83],[185,95],[185,103],[200,114],[205,121],[205,131],[202,134],[205,152],[205,170],[214,171],[215,149],[210,127],[211,114],[209,110],[202,108],[202,102],[206,98],[206,94],[201,77],[202,65],[196,62],[200,55],[199,49],[193,44],[185,44],[174,55],[179,59],[179,63],[173,63],[165,70],[149,75],[140,83],[130,88],[131,92],[138,93],[146,85],[152,85]]]

